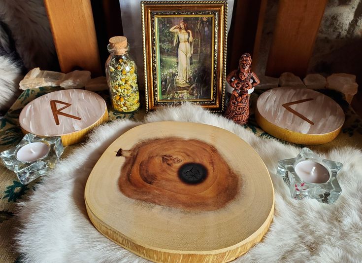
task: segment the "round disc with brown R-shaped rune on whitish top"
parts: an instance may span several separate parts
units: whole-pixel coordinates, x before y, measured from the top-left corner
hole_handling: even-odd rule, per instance
[[[106,120],[108,111],[102,97],[81,89],[45,94],[27,104],[19,115],[24,133],[61,136],[63,145],[82,141],[90,129]]]

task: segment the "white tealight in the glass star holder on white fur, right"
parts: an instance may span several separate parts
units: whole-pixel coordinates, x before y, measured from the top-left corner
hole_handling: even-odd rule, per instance
[[[296,174],[305,182],[323,184],[329,180],[329,171],[322,164],[314,161],[301,161],[294,167]]]

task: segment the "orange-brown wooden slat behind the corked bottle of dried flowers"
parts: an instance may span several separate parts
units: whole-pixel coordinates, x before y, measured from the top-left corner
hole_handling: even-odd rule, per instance
[[[102,74],[92,6],[89,0],[44,0],[62,72]]]

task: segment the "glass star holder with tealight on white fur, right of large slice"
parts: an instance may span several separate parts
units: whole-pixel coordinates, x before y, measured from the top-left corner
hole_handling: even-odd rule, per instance
[[[342,166],[303,148],[296,158],[280,160],[277,174],[283,177],[293,198],[334,203],[342,192],[336,178]]]

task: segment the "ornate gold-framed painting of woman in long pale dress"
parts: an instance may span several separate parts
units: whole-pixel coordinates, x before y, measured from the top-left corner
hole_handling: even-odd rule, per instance
[[[224,110],[227,0],[142,1],[146,111],[184,101]]]

